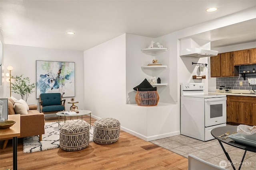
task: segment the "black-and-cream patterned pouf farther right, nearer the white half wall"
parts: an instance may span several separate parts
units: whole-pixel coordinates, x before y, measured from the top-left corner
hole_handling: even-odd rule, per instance
[[[93,141],[99,144],[115,143],[119,139],[120,122],[114,118],[103,118],[94,122]]]

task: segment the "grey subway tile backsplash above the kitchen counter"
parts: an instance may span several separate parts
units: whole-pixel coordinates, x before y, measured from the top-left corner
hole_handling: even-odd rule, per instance
[[[248,78],[256,78],[256,72],[252,73],[252,69],[256,69],[256,64],[250,64],[250,65],[242,65],[239,66],[239,72],[242,73],[243,71],[246,71],[246,78],[241,76],[239,74],[239,77],[221,77],[221,78],[216,78],[216,89],[219,89],[220,86],[225,86],[225,87],[231,87],[232,89],[236,90],[251,90],[254,89],[256,90],[256,85],[251,85],[248,82]],[[248,74],[247,71],[250,71]],[[243,83],[242,86],[240,86],[240,82]]]

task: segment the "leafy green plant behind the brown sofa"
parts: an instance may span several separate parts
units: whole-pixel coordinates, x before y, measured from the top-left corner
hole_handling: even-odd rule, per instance
[[[12,81],[12,92],[16,93],[16,94],[20,94],[22,100],[25,100],[27,102],[28,100],[28,96],[34,92],[33,88],[35,88],[36,83],[32,83],[30,84],[30,78],[29,77],[22,77],[23,74],[21,74],[20,76],[12,76],[12,79],[14,80],[14,82]]]

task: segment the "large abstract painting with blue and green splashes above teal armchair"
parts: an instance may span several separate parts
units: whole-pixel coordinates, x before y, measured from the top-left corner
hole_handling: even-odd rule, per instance
[[[75,63],[36,61],[36,98],[41,93],[60,93],[75,96]]]

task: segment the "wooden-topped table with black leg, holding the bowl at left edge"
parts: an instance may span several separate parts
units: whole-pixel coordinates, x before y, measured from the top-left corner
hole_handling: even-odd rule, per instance
[[[13,160],[13,169],[17,170],[17,145],[18,139],[20,136],[20,115],[8,115],[8,120],[15,121],[16,123],[7,129],[0,129],[0,139],[12,137],[12,160]]]

